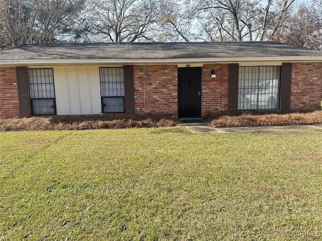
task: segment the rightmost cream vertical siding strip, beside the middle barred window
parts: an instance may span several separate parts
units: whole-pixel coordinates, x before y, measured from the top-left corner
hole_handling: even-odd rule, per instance
[[[88,76],[91,91],[92,113],[102,112],[101,105],[101,85],[100,85],[100,68],[99,66],[89,66]]]

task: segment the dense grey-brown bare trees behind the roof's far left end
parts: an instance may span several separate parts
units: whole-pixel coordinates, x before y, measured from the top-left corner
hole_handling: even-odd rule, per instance
[[[67,40],[85,0],[1,0],[2,44],[53,43]]]

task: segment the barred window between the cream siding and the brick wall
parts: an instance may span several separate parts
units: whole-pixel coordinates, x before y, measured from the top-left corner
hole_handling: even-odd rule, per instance
[[[124,112],[123,68],[100,68],[102,112]]]

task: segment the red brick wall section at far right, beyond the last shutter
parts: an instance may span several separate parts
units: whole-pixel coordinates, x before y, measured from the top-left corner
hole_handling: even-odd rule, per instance
[[[293,63],[291,109],[319,109],[322,95],[322,63]]]

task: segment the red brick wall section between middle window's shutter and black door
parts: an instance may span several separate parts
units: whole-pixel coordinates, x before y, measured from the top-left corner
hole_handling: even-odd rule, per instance
[[[133,71],[135,112],[177,116],[177,65],[134,66]]]

